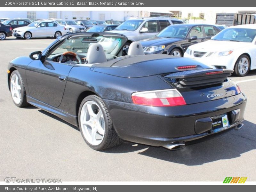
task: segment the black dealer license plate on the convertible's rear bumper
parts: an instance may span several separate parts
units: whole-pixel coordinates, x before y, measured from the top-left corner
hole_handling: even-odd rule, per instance
[[[212,132],[219,132],[224,129],[228,129],[229,121],[228,115],[222,114],[218,116],[211,117],[212,118]]]

